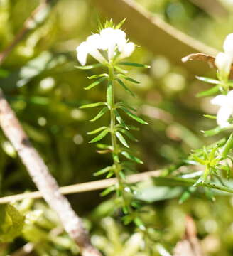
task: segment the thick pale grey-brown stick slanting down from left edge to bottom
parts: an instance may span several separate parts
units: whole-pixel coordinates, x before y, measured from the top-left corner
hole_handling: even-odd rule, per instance
[[[33,179],[43,198],[45,198],[50,208],[55,210],[66,232],[80,247],[82,256],[100,256],[100,252],[91,245],[89,235],[83,226],[81,218],[72,210],[67,198],[60,193],[58,183],[50,175],[48,167],[38,154],[38,151],[32,146],[1,90],[0,126],[18,152],[18,156],[26,166],[28,174]]]

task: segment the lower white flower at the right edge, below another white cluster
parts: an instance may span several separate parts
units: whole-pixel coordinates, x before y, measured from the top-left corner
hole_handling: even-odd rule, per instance
[[[221,128],[229,127],[228,120],[233,114],[233,90],[227,95],[217,95],[211,100],[211,103],[220,106],[220,110],[217,112],[217,124]]]

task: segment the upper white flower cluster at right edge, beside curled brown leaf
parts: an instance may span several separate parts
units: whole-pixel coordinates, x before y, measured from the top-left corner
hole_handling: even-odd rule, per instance
[[[223,44],[224,53],[218,53],[215,58],[215,65],[219,72],[220,80],[228,80],[233,63],[233,33],[230,33]]]

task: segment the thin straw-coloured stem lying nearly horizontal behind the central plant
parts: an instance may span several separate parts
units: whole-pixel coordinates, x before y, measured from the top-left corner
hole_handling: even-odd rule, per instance
[[[141,174],[133,174],[127,176],[127,182],[129,183],[136,183],[139,181],[146,180],[150,177],[158,177],[161,174],[161,171],[147,171]],[[60,193],[64,195],[71,194],[71,193],[82,193],[87,191],[95,191],[103,188],[107,188],[117,183],[116,178],[107,178],[100,181],[90,181],[70,186],[63,186],[60,188]],[[31,193],[21,193],[14,196],[4,196],[0,198],[1,203],[10,203],[15,201],[21,201],[26,198],[41,198],[42,193],[40,191],[31,192]]]

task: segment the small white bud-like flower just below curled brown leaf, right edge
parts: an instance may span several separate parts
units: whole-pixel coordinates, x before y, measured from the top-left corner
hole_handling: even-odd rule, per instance
[[[227,80],[232,66],[232,59],[227,53],[218,53],[215,58],[215,65],[220,73],[222,80]]]

